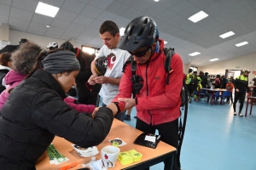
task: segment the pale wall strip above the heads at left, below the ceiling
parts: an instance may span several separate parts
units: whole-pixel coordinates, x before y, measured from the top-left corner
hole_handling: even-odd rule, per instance
[[[37,43],[42,48],[46,48],[46,46],[48,45],[49,42],[57,42],[60,47],[61,43],[67,41],[67,40],[61,40],[61,39],[56,39],[56,38],[52,38],[52,37],[38,36],[35,34],[26,33],[26,32],[22,32],[22,31],[14,31],[14,30],[9,31],[9,42],[12,45],[19,44],[21,38],[26,38],[28,40],[31,40],[32,42]],[[81,48],[80,43],[78,43],[78,42],[74,43],[73,41],[71,41],[71,42],[73,43],[74,48]]]

